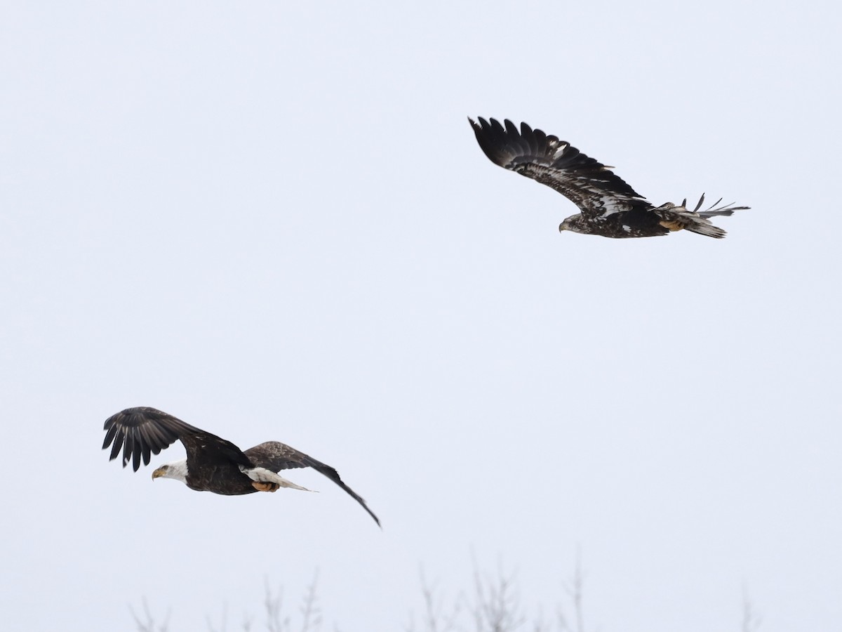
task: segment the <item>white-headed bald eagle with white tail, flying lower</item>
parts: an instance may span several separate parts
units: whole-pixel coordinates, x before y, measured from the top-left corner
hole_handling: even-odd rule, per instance
[[[150,454],[160,453],[178,439],[187,450],[187,458],[162,465],[152,472],[152,479],[180,480],[196,491],[223,495],[276,491],[280,487],[310,491],[277,473],[281,469],[315,469],[348,492],[380,525],[374,512],[342,482],[335,469],[283,443],[268,441],[243,451],[230,441],[148,406],[111,415],[105,420],[104,431],[103,449],[111,447],[109,460],[117,458],[122,447],[123,467],[131,461],[135,471],[141,467],[141,458],[148,465]]]

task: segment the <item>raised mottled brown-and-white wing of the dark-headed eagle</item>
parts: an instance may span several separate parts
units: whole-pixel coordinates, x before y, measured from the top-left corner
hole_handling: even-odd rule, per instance
[[[652,206],[609,167],[568,142],[533,130],[525,123],[520,124],[518,131],[508,119],[505,127],[494,119],[468,121],[491,162],[552,187],[573,201],[584,217],[594,219]]]

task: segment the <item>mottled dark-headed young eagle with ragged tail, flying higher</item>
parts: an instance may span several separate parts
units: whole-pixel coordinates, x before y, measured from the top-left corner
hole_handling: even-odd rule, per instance
[[[690,211],[687,200],[680,206],[667,202],[654,206],[604,164],[585,156],[570,143],[533,130],[525,123],[520,131],[508,119],[505,126],[491,119],[468,119],[477,142],[491,162],[525,175],[557,190],[579,207],[581,213],[564,220],[559,231],[603,237],[655,237],[686,228],[707,237],[725,237],[710,217],[731,215],[749,206],[718,206],[700,211],[705,196]]]

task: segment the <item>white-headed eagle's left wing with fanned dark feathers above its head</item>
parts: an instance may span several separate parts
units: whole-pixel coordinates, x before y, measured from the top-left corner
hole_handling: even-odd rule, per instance
[[[104,430],[103,449],[111,446],[110,460],[117,458],[122,447],[123,467],[131,461],[135,471],[141,467],[141,458],[143,464],[148,465],[152,454],[160,453],[176,440],[184,443],[188,469],[198,471],[197,467],[191,467],[197,456],[205,463],[228,460],[238,465],[251,465],[232,442],[149,406],[127,408],[111,415],[105,420]]]

